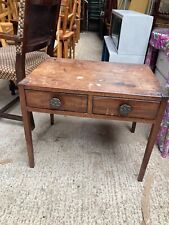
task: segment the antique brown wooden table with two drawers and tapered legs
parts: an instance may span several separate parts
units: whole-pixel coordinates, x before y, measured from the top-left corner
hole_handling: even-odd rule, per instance
[[[30,167],[31,113],[151,123],[138,181],[142,181],[167,103],[146,65],[51,58],[19,83]],[[51,116],[52,118],[52,116]],[[52,120],[53,121],[53,120]]]

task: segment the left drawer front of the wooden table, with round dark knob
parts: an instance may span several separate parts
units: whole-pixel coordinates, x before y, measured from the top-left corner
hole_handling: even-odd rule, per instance
[[[26,90],[27,106],[70,112],[87,112],[87,96]]]

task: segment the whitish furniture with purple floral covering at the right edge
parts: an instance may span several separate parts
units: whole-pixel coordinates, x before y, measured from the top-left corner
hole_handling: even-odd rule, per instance
[[[154,54],[154,52],[156,54]],[[158,54],[159,52],[159,54]],[[153,56],[152,56],[153,55]],[[156,28],[150,38],[150,47],[146,63],[155,71],[161,86],[169,87],[169,29]],[[161,155],[166,157],[169,153],[169,103],[167,104],[160,130],[157,145]]]

